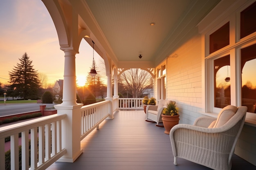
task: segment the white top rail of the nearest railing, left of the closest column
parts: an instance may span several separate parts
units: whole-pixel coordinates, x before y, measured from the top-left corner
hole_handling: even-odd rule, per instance
[[[25,130],[37,128],[45,124],[50,124],[54,121],[59,121],[61,119],[64,119],[65,117],[66,117],[66,114],[63,114],[63,115],[54,114],[50,116],[40,117],[40,118],[12,124],[12,125],[0,127],[0,139],[8,137],[10,135],[17,134],[19,132],[23,132]]]

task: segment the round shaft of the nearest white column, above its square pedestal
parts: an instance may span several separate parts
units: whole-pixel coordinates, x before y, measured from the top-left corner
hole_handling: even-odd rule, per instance
[[[61,105],[76,105],[76,52],[64,50],[63,99]]]

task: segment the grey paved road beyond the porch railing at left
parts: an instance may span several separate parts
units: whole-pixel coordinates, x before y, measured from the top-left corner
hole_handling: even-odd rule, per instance
[[[37,103],[29,104],[0,104],[0,116],[13,115],[17,113],[25,113],[30,111],[40,110],[40,105]],[[51,108],[56,104],[45,104],[47,108]]]

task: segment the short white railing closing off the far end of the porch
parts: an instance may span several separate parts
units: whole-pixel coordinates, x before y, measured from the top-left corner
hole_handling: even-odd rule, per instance
[[[143,110],[143,98],[118,98],[119,110]]]

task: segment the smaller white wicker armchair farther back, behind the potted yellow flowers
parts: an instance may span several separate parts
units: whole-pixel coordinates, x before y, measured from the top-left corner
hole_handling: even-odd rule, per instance
[[[148,105],[146,107],[146,121],[148,122],[157,122],[157,124],[155,126],[160,126],[159,123],[163,122],[162,121],[162,111],[164,108],[167,107],[167,105],[173,102],[174,104],[176,103],[175,101],[171,101],[171,100],[159,100],[157,105]],[[153,121],[149,121],[153,120]],[[162,127],[162,126],[160,126]]]

